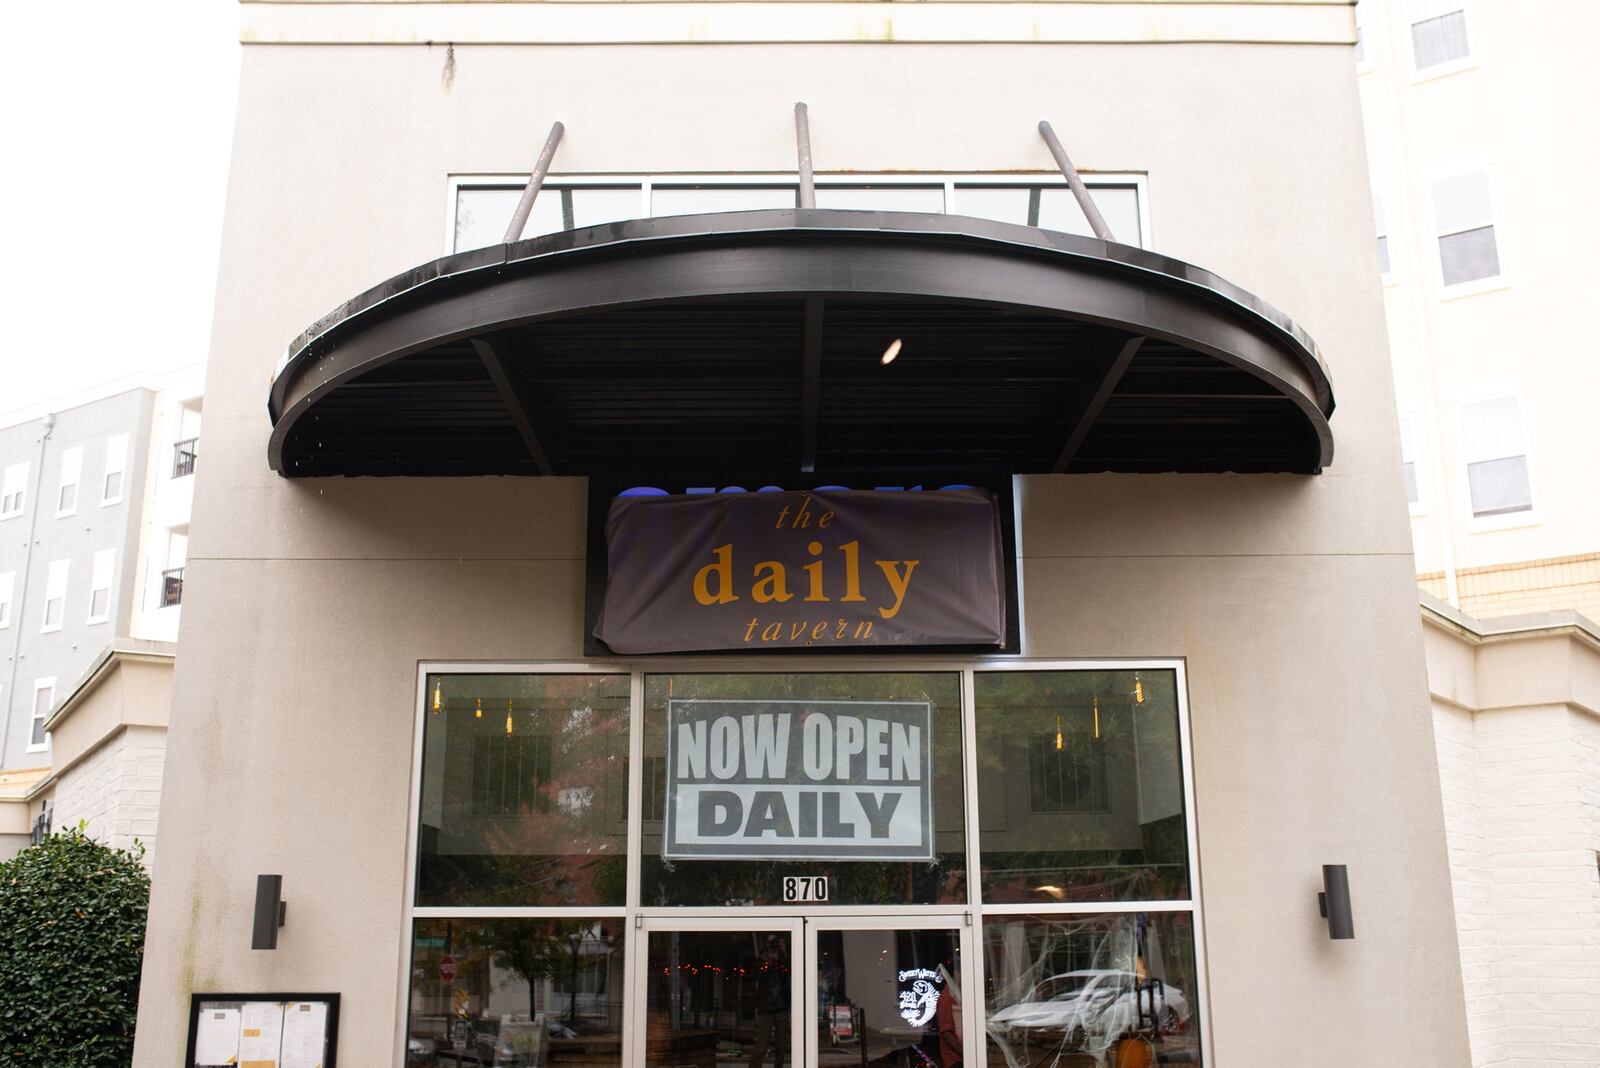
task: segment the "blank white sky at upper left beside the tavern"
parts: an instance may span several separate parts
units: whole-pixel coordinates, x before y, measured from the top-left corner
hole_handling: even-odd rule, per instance
[[[237,3],[18,3],[5,37],[0,416],[202,363]]]

